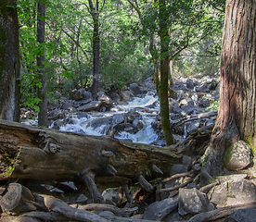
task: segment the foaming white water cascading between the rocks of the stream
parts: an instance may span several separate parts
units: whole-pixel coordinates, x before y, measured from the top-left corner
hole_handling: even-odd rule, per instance
[[[144,98],[135,97],[128,105],[114,106],[109,112],[90,113],[85,117],[79,117],[75,114],[70,114],[67,124],[64,124],[59,129],[63,131],[73,131],[86,135],[107,135],[111,129],[110,119],[116,114],[125,114],[136,109],[136,112],[142,117],[140,121],[143,128],[136,133],[129,130],[122,130],[115,135],[115,138],[120,140],[131,140],[132,142],[151,143],[158,139],[158,135],[151,127],[151,123],[155,121],[159,114],[158,97],[146,95]],[[138,111],[139,110],[139,111]],[[50,127],[52,128],[53,125]]]

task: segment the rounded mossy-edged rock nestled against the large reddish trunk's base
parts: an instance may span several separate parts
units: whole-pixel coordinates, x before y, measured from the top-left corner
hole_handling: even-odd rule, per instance
[[[225,152],[225,167],[235,171],[244,169],[251,163],[251,149],[246,142],[238,141],[229,147]]]

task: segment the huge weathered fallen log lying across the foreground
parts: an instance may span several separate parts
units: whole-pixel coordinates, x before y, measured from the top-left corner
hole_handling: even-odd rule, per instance
[[[121,142],[0,120],[1,176],[37,181],[83,180],[94,189],[168,176],[182,154],[173,147]],[[160,168],[155,170],[156,166]],[[143,184],[142,184],[143,185]]]

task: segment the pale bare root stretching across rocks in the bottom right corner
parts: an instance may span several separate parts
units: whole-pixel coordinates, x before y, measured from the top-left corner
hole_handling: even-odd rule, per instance
[[[210,212],[200,213],[196,216],[191,217],[188,220],[188,222],[213,221],[216,219],[223,218],[224,216],[229,216],[236,210],[250,208],[250,207],[256,207],[256,202],[237,204],[237,205],[233,205],[233,206],[225,206],[225,207],[218,208],[218,209],[210,211]]]

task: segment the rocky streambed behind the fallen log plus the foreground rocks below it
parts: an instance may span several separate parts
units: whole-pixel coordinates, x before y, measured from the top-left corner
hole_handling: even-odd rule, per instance
[[[181,77],[174,80],[173,90],[173,96],[169,98],[170,121],[175,142],[179,144],[193,131],[214,125],[217,113],[211,106],[219,99],[219,79]],[[137,105],[139,101],[147,103]],[[32,112],[24,111],[23,122],[31,124],[32,115]],[[145,119],[148,118],[147,122]],[[149,134],[146,133],[147,143],[165,145],[158,97],[151,79],[141,84],[133,83],[122,92],[98,93],[96,101],[84,89],[70,93],[70,97],[58,94],[56,103],[49,104],[49,120],[53,129],[98,133],[132,141],[137,140],[132,135],[150,129]],[[170,178],[150,181],[151,191],[145,191],[137,184],[111,188],[102,192],[103,205],[90,205],[90,197],[72,183],[47,186],[45,190],[69,207],[90,210],[107,221],[255,221],[256,174],[250,147],[244,142],[236,142],[230,155],[225,175],[211,178],[211,184],[206,186],[200,183],[202,163],[198,156],[184,154],[182,163],[170,169]],[[69,191],[72,191],[71,195]],[[37,219],[33,221],[39,221]],[[94,221],[78,217],[67,219]]]

